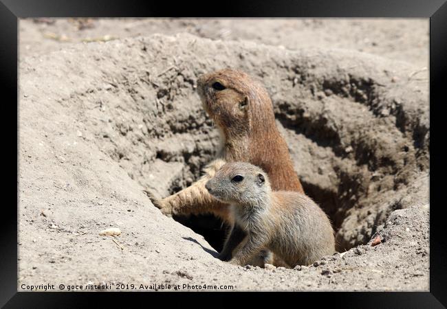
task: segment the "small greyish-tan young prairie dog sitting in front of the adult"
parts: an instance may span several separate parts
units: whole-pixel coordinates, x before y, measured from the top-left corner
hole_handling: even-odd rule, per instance
[[[230,204],[235,225],[248,235],[230,263],[246,265],[268,249],[294,267],[335,252],[334,230],[325,212],[305,194],[272,191],[261,168],[244,162],[226,163],[205,187],[219,201]],[[233,231],[223,255],[232,251]]]

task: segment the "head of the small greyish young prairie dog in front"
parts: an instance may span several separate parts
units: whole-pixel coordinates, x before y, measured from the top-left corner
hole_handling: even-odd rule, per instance
[[[245,162],[226,163],[205,187],[223,203],[242,205],[259,205],[271,192],[267,174]]]

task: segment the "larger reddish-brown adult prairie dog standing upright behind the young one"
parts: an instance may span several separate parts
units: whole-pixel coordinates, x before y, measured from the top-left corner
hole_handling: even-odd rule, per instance
[[[215,82],[226,89],[213,89]],[[201,76],[197,86],[206,112],[221,133],[220,159],[260,166],[270,177],[273,190],[303,192],[287,144],[276,128],[272,101],[261,84],[242,71],[223,69]],[[232,222],[228,205],[216,201],[204,188],[216,170],[214,164],[208,165],[199,181],[162,200],[153,198],[154,204],[168,216],[211,213]]]

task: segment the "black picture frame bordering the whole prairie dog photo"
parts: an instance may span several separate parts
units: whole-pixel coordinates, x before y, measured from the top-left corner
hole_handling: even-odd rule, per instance
[[[440,111],[442,106],[441,95],[444,94],[444,83],[447,71],[447,3],[445,0],[281,0],[281,1],[223,1],[221,3],[190,3],[182,1],[32,1],[32,0],[1,0],[0,1],[0,61],[1,61],[1,88],[3,108],[8,107],[7,117],[3,117],[3,142],[10,144],[4,146],[6,154],[10,155],[3,166],[14,166],[6,162],[14,162],[14,171],[5,176],[6,183],[3,190],[6,196],[13,196],[13,181],[18,174],[18,121],[19,115],[17,101],[17,52],[18,52],[18,19],[28,17],[153,17],[153,16],[215,16],[215,17],[400,17],[400,18],[429,18],[430,19],[430,127],[432,142],[430,143],[430,200],[433,207],[430,209],[430,292],[427,293],[287,293],[287,297],[296,298],[299,304],[316,304],[319,301],[328,301],[331,307],[343,308],[445,308],[447,306],[447,246],[445,217],[441,215],[444,201],[440,185],[444,172],[444,159],[441,145],[433,144],[435,140],[442,140],[444,117]],[[444,76],[444,78],[443,78]],[[14,104],[13,102],[16,102]],[[433,109],[434,108],[434,109]],[[13,115],[17,115],[14,117]],[[12,131],[17,128],[17,134]],[[444,138],[445,140],[445,138]],[[15,145],[15,148],[14,148]],[[15,153],[14,153],[15,149]],[[433,181],[435,179],[435,181]],[[437,180],[439,179],[439,181]],[[15,190],[18,192],[18,182]],[[432,188],[434,190],[432,190]],[[439,203],[438,203],[439,201]],[[2,216],[3,229],[0,233],[0,306],[5,308],[74,308],[91,304],[93,297],[104,297],[115,304],[124,301],[122,294],[116,293],[28,293],[17,292],[17,206],[15,203],[4,202]],[[148,295],[149,294],[149,295]],[[162,301],[173,301],[171,293],[155,293],[162,297]],[[140,301],[140,297],[154,297],[153,293],[132,293],[133,301]],[[236,293],[231,293],[235,296]],[[274,295],[267,293],[254,293],[259,300]],[[175,293],[178,297],[197,297],[201,303],[212,306],[204,297],[216,297],[228,301],[227,294],[221,293]],[[186,296],[187,295],[187,296]],[[196,296],[197,295],[197,296]],[[250,294],[252,295],[252,293]],[[129,296],[129,295],[127,295]],[[239,295],[237,295],[239,296]],[[281,295],[281,297],[283,297]],[[274,300],[274,299],[272,299]],[[281,299],[282,300],[282,299]],[[195,300],[196,301],[196,300]],[[205,302],[206,301],[206,302]],[[145,304],[140,302],[140,304]],[[147,303],[146,303],[147,304]],[[162,303],[163,304],[163,303]],[[166,304],[166,303],[164,303]],[[177,303],[178,304],[178,303]],[[296,303],[298,304],[298,303]],[[155,305],[155,304],[154,304]],[[182,306],[182,304],[180,304]]]

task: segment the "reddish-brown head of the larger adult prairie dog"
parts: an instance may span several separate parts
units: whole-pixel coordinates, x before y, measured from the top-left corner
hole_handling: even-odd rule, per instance
[[[252,123],[259,120],[254,115],[258,114],[261,105],[267,105],[271,110],[271,113],[261,111],[262,117],[271,114],[274,119],[267,91],[242,71],[221,69],[204,74],[197,80],[197,92],[208,115],[226,133],[243,135],[250,132]]]

